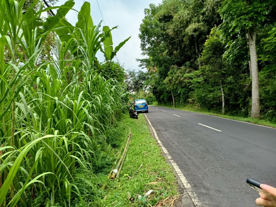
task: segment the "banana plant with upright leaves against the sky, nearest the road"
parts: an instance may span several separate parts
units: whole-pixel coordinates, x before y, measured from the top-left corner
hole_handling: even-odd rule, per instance
[[[102,53],[105,56],[106,62],[110,62],[116,56],[117,52],[121,49],[121,47],[123,47],[124,44],[131,38],[131,36],[128,37],[127,39],[125,39],[124,41],[122,41],[113,50],[113,41],[112,41],[112,35],[111,35],[111,30],[109,29],[109,26],[104,26],[103,27],[103,32],[104,32],[104,35],[105,35],[105,38],[104,38],[104,41],[103,41],[104,49],[103,50],[101,49],[101,50],[102,50]]]

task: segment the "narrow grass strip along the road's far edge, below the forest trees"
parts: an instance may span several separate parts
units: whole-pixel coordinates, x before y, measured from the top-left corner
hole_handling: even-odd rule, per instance
[[[156,103],[157,102],[155,102],[155,105],[156,105]],[[262,119],[256,119],[256,118],[252,118],[252,117],[237,117],[237,116],[231,116],[231,115],[227,115],[227,114],[222,115],[220,113],[210,112],[207,109],[196,108],[193,105],[177,106],[176,108],[174,108],[173,106],[170,106],[170,105],[169,106],[168,105],[161,105],[161,104],[157,104],[157,105],[167,107],[167,108],[171,108],[171,109],[179,109],[179,110],[182,110],[182,111],[191,111],[191,112],[203,113],[203,114],[213,115],[213,116],[217,116],[217,117],[233,119],[233,120],[237,120],[237,121],[245,121],[245,122],[252,123],[252,124],[258,124],[258,125],[263,125],[263,126],[269,126],[269,127],[276,128],[276,124],[271,123],[270,121],[265,121],[265,120],[262,120]]]

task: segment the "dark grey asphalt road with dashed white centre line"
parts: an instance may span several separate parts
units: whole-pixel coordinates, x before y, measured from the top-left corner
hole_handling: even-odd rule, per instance
[[[203,206],[257,206],[247,178],[276,186],[276,129],[159,106],[146,115]]]

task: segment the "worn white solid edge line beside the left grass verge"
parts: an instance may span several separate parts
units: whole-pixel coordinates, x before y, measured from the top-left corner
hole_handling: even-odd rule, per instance
[[[160,145],[160,147],[162,148],[164,154],[167,156],[168,160],[170,160],[172,166],[174,167],[174,170],[176,171],[176,173],[178,174],[178,177],[180,178],[181,182],[183,183],[183,185],[185,186],[187,192],[190,195],[190,198],[192,199],[192,201],[194,202],[195,207],[203,207],[203,205],[201,204],[201,202],[198,200],[197,195],[195,194],[195,192],[192,189],[192,186],[190,185],[190,183],[187,181],[187,179],[185,178],[185,176],[182,174],[181,170],[179,169],[179,167],[177,166],[177,164],[174,162],[174,160],[171,158],[171,155],[169,154],[169,152],[167,151],[167,149],[164,147],[164,145],[162,144],[162,142],[159,140],[157,133],[155,131],[155,129],[153,128],[153,126],[151,125],[151,122],[149,121],[148,117],[146,114],[144,114],[145,117],[148,120],[149,125],[151,126],[151,129],[154,133],[155,139],[157,140],[158,144]]]

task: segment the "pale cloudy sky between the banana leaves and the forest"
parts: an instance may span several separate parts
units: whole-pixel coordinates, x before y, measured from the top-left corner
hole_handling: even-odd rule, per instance
[[[139,70],[139,63],[136,58],[142,58],[140,50],[139,27],[144,18],[144,9],[149,7],[150,3],[159,4],[162,0],[98,0],[102,16],[96,0],[86,0],[91,4],[91,16],[94,24],[98,24],[103,19],[105,25],[110,28],[119,26],[118,29],[112,31],[113,46],[117,46],[127,37],[132,36],[130,40],[117,53],[117,59],[120,64],[124,64],[126,70]],[[66,0],[59,0],[56,6],[62,5]],[[75,10],[80,10],[83,0],[75,0]],[[54,10],[56,13],[56,11]],[[77,14],[70,11],[66,18],[75,25]],[[102,22],[102,25],[104,23]],[[98,54],[100,61],[103,56]],[[116,59],[115,59],[116,60]]]

